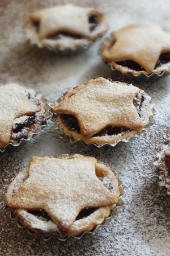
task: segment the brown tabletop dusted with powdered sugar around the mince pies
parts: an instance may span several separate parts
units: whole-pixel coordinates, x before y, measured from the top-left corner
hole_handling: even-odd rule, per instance
[[[16,3],[17,2],[17,3]],[[53,123],[31,142],[1,154],[0,175],[0,254],[18,256],[167,256],[170,251],[170,200],[158,180],[152,176],[156,154],[169,136],[170,77],[137,82],[113,73],[97,55],[101,41],[80,55],[59,57],[25,43],[23,26],[28,13],[63,0],[1,1],[1,84],[18,82],[34,88],[54,104],[57,98],[74,86],[92,78],[104,76],[112,80],[131,82],[152,97],[155,102],[155,125],[129,143],[116,147],[83,147],[59,139]],[[96,7],[108,18],[109,35],[112,31],[135,22],[150,20],[170,31],[170,3],[162,1],[99,1],[73,0],[71,3]],[[158,15],[159,14],[159,15]],[[81,240],[69,238],[65,242],[44,242],[31,236],[11,221],[5,209],[8,184],[27,166],[30,156],[55,154],[84,154],[108,163],[123,181],[125,208],[117,220],[97,230],[94,236],[84,235]]]

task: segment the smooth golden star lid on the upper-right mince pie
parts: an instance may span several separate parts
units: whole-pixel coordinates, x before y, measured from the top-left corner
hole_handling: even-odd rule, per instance
[[[113,33],[113,42],[103,47],[103,58],[112,63],[133,60],[150,74],[161,53],[170,51],[170,33],[158,24],[131,24]]]

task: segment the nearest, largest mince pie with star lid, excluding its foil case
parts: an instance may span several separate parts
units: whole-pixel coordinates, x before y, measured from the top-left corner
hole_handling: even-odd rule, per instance
[[[95,158],[33,156],[9,185],[6,204],[27,228],[62,238],[101,224],[119,194],[113,171]]]

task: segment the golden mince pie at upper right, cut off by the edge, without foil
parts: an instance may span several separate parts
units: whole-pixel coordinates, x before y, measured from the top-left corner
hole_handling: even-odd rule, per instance
[[[158,24],[131,24],[101,47],[103,60],[122,73],[161,74],[170,70],[170,33]]]

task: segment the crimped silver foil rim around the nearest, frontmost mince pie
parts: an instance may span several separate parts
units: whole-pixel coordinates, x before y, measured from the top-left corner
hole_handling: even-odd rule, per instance
[[[75,154],[62,154],[62,155],[56,155],[56,156],[52,156],[52,157],[53,157],[53,158],[66,158],[66,157],[71,157],[71,156],[73,156],[73,155],[75,155]],[[103,163],[103,164],[105,164],[105,166],[108,166],[108,167],[109,167],[109,165],[106,164],[106,163],[104,163],[104,162],[101,162],[101,161],[99,161],[99,160],[97,160],[97,162]],[[109,167],[109,168],[112,170],[111,167]],[[83,233],[80,234],[79,236],[67,236],[67,237],[65,237],[65,238],[59,238],[59,237],[57,237],[57,236],[51,236],[51,237],[46,238],[46,237],[41,236],[45,242],[48,242],[48,241],[51,240],[52,238],[57,238],[57,239],[60,240],[60,241],[66,241],[68,238],[73,237],[73,238],[75,238],[75,239],[77,239],[77,240],[80,240],[80,239],[84,236],[84,234],[95,234],[96,231],[97,231],[100,227],[102,227],[102,226],[108,226],[108,225],[109,225],[109,222],[110,222],[113,218],[117,218],[117,217],[118,217],[118,210],[121,209],[121,208],[124,208],[124,201],[122,200],[122,196],[125,195],[125,191],[124,191],[124,189],[122,188],[122,185],[123,185],[122,180],[121,180],[119,177],[117,177],[117,172],[114,171],[114,170],[112,170],[112,171],[113,171],[113,173],[114,173],[114,175],[115,175],[115,177],[116,177],[116,179],[117,179],[117,181],[118,181],[118,188],[119,188],[119,191],[120,191],[120,195],[118,196],[118,203],[116,204],[116,207],[114,207],[114,208],[111,210],[111,214],[110,214],[107,218],[105,218],[105,220],[103,221],[103,223],[102,223],[102,224],[99,224],[99,225],[96,225],[96,226],[95,226],[92,230],[90,230],[90,231],[85,231],[85,232],[83,232]],[[8,209],[7,205],[6,205],[6,208]],[[17,225],[18,225],[18,228],[25,228],[25,229],[27,229],[27,231],[28,231],[29,234],[31,234],[31,235],[33,235],[33,236],[36,235],[35,232],[33,232],[32,230],[26,228],[26,227],[23,226],[19,221],[17,221],[16,218],[14,217],[14,213],[12,213],[10,209],[8,209],[8,210],[10,211],[10,218],[11,218],[11,220],[15,220],[15,221],[16,221],[16,223],[17,223]]]

